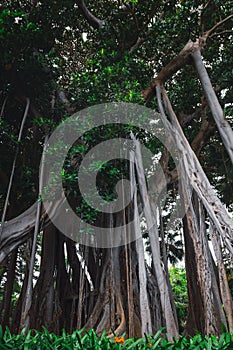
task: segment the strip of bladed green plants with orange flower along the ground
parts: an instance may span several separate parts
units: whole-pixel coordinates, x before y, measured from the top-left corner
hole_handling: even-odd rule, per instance
[[[164,329],[159,330],[155,335],[148,335],[140,339],[124,337],[107,338],[106,334],[97,336],[93,330],[84,332],[76,330],[72,334],[63,331],[62,335],[49,333],[46,328],[43,332],[29,331],[25,334],[11,334],[9,329],[3,332],[0,327],[0,349],[15,350],[63,350],[63,349],[85,349],[85,350],[109,350],[109,349],[195,349],[195,350],[233,350],[233,335],[223,333],[220,337],[195,335],[192,338],[180,336],[169,342],[167,337],[161,336]]]

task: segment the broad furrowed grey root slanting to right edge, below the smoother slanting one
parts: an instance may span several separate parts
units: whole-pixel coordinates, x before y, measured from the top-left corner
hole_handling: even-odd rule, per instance
[[[163,90],[163,97],[167,107],[168,114],[172,123],[168,122],[166,114],[161,102],[161,90],[160,86],[157,86],[157,95],[159,108],[161,111],[161,118],[163,119],[165,127],[170,131],[171,144],[175,144],[175,148],[179,154],[180,161],[180,175],[182,179],[186,181],[186,191],[189,189],[189,197],[191,199],[192,189],[195,190],[198,197],[202,201],[210,219],[216,225],[216,229],[221,235],[225,247],[229,250],[230,254],[233,254],[232,241],[233,241],[233,221],[230,218],[224,205],[216,195],[214,189],[209,183],[209,180],[201,167],[199,160],[190,147],[189,142],[183,134],[178,119],[172,109],[168,96]],[[170,144],[170,146],[171,146]],[[174,147],[173,144],[173,147]]]

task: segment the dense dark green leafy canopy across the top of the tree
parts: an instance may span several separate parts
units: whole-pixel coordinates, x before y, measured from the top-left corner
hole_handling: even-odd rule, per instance
[[[133,11],[130,7],[126,11],[130,2]],[[107,101],[143,103],[141,91],[149,85],[151,77],[174,58],[189,39],[196,40],[201,32],[231,13],[230,1],[212,1],[205,10],[202,1],[130,2],[124,1],[124,11],[116,1],[99,1],[98,11],[94,8],[94,2],[90,2],[90,10],[94,10],[101,18],[106,18],[106,27],[99,31],[88,26],[73,0],[49,4],[42,0],[36,6],[28,0],[2,2],[2,97],[9,91],[15,93],[19,89],[20,94],[31,97],[41,114],[32,118],[33,125],[31,121],[27,125],[30,135],[23,142],[29,137],[33,139],[34,127],[43,129],[49,124],[49,128],[53,129],[62,114],[65,117],[61,104],[56,103],[53,112],[50,105],[52,90],[59,90],[61,86],[69,93],[75,110]],[[201,10],[203,15],[200,19]],[[230,23],[226,23],[226,29],[231,29]],[[83,40],[83,33],[87,35],[86,41]],[[142,43],[130,53],[130,49],[137,42],[136,35],[140,36]],[[228,67],[232,64],[232,54],[227,35],[224,34],[221,38],[218,35],[213,36],[207,42],[203,55],[210,67],[208,69],[213,84],[218,88],[226,117],[230,121],[232,77]],[[202,91],[192,66],[185,67],[169,80],[167,89],[177,114],[191,114],[200,105]],[[19,111],[18,106],[12,106],[11,109],[12,113],[8,111],[7,121],[4,120],[4,125],[0,126],[4,129],[0,142],[2,141],[2,145],[6,141],[8,143],[7,152],[5,146],[2,146],[2,154],[9,151],[14,153],[12,143],[16,138],[18,119],[12,118]],[[208,118],[211,117],[208,115]],[[199,117],[185,128],[184,132],[190,141],[194,139],[199,128]],[[223,147],[219,147],[218,135],[211,141],[211,146],[207,144],[202,151],[201,162],[209,169],[207,176],[223,201],[231,205],[230,164]],[[31,155],[27,147],[25,150],[33,159],[34,154]],[[215,159],[214,163],[212,159]],[[9,154],[2,163],[8,175],[12,164]],[[32,167],[36,169],[38,164],[33,164]],[[38,174],[35,169],[16,176],[18,184],[20,178],[26,180],[27,188],[24,188],[23,183],[18,186],[19,192],[24,192],[25,197],[31,192],[30,189],[35,189]],[[1,193],[4,192],[4,189],[0,190]],[[30,196],[26,206],[34,199],[34,196]]]

